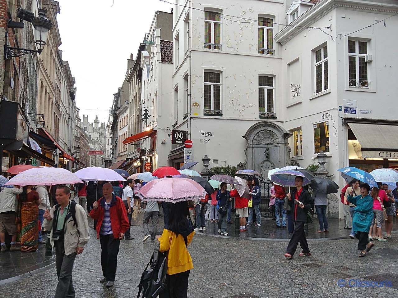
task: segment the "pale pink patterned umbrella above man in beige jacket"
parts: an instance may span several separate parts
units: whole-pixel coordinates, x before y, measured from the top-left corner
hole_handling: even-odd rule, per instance
[[[75,174],[64,168],[35,167],[11,178],[5,185],[55,185],[83,183]]]

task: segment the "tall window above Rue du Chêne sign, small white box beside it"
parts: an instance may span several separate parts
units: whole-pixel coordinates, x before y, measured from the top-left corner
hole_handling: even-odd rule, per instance
[[[350,87],[369,87],[367,42],[348,41],[348,84]]]

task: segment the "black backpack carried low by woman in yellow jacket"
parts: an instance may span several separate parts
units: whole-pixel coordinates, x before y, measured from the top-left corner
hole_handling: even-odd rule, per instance
[[[166,288],[167,255],[159,252],[160,242],[156,245],[154,252],[141,275],[138,285],[138,295],[142,292],[143,298],[156,298]]]

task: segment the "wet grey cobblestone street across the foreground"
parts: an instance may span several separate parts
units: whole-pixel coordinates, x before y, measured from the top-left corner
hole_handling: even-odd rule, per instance
[[[159,226],[160,228],[160,226]],[[154,243],[142,243],[142,226],[132,226],[135,240],[121,241],[116,283],[105,288],[100,243],[95,231],[84,253],[76,258],[76,297],[135,297],[140,275]],[[397,237],[394,234],[393,237]],[[194,269],[189,276],[189,297],[394,297],[398,294],[398,241],[376,243],[364,258],[358,257],[357,240],[310,240],[310,257],[283,257],[287,242],[254,241],[236,237],[195,235],[189,252]],[[340,287],[350,279],[391,281],[392,287]],[[4,298],[52,298],[57,284],[55,267],[0,286]]]

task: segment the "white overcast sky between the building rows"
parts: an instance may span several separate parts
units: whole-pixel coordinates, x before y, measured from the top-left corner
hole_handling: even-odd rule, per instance
[[[76,78],[80,118],[88,114],[93,122],[98,109],[98,118],[106,125],[130,53],[135,59],[154,13],[171,12],[172,5],[159,0],[59,0],[59,4],[62,60],[69,62]]]

